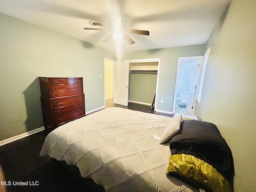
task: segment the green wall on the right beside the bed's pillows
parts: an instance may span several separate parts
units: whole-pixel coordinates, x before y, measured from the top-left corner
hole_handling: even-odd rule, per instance
[[[231,148],[234,191],[256,188],[256,1],[233,0],[212,33],[196,115],[216,124]]]

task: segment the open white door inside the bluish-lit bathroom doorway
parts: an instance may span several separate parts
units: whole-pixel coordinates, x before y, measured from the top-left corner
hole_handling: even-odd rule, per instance
[[[196,83],[197,83],[197,74],[199,68],[200,59],[197,59],[192,62],[192,71],[190,75],[190,83],[188,88],[188,102],[186,111],[188,114],[192,115],[193,108],[194,108],[194,100],[196,95]]]

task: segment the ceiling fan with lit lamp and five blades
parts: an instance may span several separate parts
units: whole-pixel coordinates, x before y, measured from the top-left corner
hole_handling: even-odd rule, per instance
[[[149,35],[149,31],[145,30],[137,30],[137,29],[125,29],[123,28],[124,21],[121,20],[120,17],[114,17],[113,18],[113,29],[111,30],[112,33],[104,39],[102,42],[108,42],[112,37],[116,39],[124,38],[128,43],[134,44],[134,40],[132,40],[126,33],[133,33],[133,34],[139,34],[139,35]],[[84,28],[86,30],[110,30],[106,28]]]

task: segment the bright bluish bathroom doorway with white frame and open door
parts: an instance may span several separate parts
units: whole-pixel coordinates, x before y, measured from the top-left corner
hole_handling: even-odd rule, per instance
[[[172,112],[194,115],[203,56],[179,57]]]

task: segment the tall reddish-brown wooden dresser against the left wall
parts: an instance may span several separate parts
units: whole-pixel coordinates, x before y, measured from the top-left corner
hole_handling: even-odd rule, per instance
[[[39,77],[44,128],[85,116],[83,78]]]

